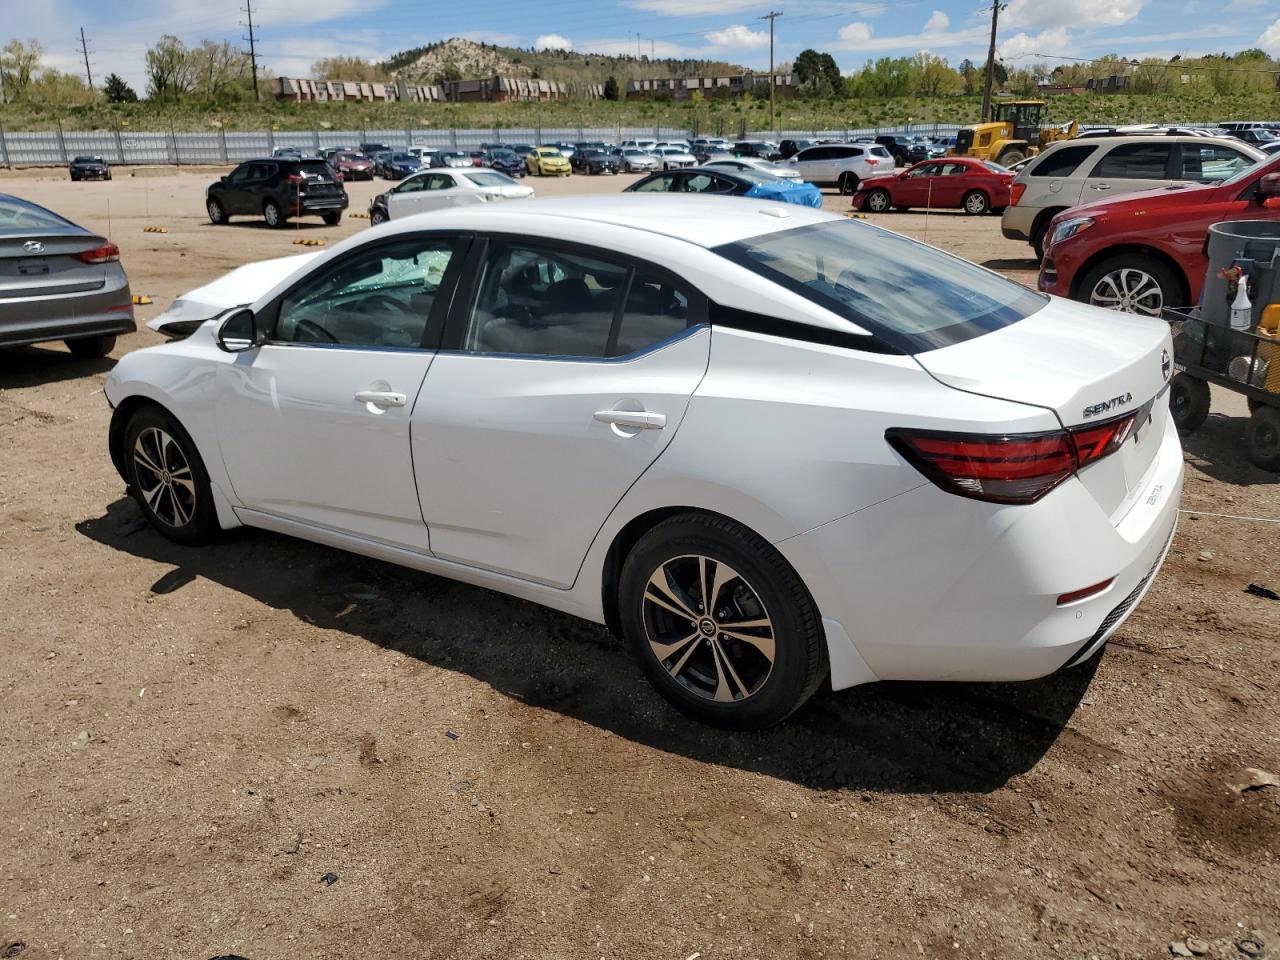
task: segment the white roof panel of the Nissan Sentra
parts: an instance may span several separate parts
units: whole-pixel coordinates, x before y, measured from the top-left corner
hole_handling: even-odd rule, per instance
[[[696,172],[700,168],[692,169]],[[726,175],[723,170],[708,173]],[[842,219],[823,210],[782,205],[776,200],[741,197],[726,202],[724,197],[680,193],[620,193],[434,210],[393,220],[379,229],[384,234],[410,233],[430,224],[433,229],[493,229],[538,236],[539,223],[562,228],[566,220],[576,220],[622,232],[659,234],[699,247],[718,247],[765,233]]]

